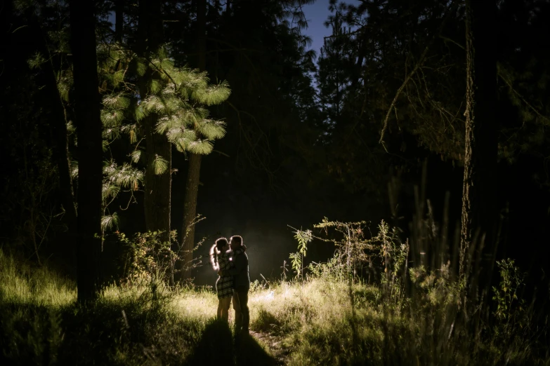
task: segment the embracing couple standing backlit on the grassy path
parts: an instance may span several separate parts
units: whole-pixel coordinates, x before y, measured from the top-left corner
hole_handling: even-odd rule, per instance
[[[250,278],[248,274],[247,247],[242,237],[232,236],[219,238],[210,248],[210,261],[214,271],[218,271],[216,292],[218,292],[218,319],[228,321],[229,308],[233,299],[235,309],[235,334],[248,334],[250,315],[248,309],[248,291]]]

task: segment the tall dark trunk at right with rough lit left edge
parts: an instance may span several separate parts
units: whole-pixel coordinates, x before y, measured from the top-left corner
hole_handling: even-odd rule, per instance
[[[497,60],[495,1],[466,0],[466,136],[462,194],[461,276],[475,259],[480,280],[492,272],[497,224]],[[483,241],[481,241],[484,238]],[[482,246],[483,245],[483,246]],[[477,271],[476,271],[477,272]],[[486,285],[486,283],[480,283]]]

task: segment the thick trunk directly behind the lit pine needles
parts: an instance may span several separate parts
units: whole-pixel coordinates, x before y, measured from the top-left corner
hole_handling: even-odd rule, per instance
[[[150,57],[159,50],[162,43],[161,2],[140,0],[138,23],[138,54]],[[149,93],[148,84],[154,74],[151,69],[140,79],[140,95]],[[145,168],[145,227],[150,231],[164,231],[163,240],[170,235],[170,200],[171,200],[171,144],[165,135],[156,133],[158,116],[150,114],[143,120],[145,143],[147,149]],[[163,158],[167,168],[162,174],[155,173],[155,161]]]

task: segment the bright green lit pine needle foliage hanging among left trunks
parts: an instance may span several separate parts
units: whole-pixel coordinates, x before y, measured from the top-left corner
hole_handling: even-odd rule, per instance
[[[209,118],[207,107],[227,100],[230,89],[225,81],[210,83],[206,72],[174,65],[167,46],[140,57],[117,43],[101,44],[98,71],[105,151],[122,137],[128,138],[132,147],[128,162],[117,164],[111,156],[105,163],[105,230],[117,224],[117,216],[110,214],[107,206],[120,191],[132,193],[143,184],[144,172],[133,164],[139,164],[143,152],[147,153],[147,147],[141,144],[145,140],[145,118],[154,114],[155,133],[166,135],[178,151],[209,154],[214,140],[225,136],[225,123]],[[155,175],[164,174],[169,167],[166,157],[159,155],[152,164]]]

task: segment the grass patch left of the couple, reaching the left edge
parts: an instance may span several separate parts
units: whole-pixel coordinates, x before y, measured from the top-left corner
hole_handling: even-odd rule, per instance
[[[72,281],[2,250],[0,278],[1,365],[183,364],[208,321],[166,289],[107,287],[81,307]]]

